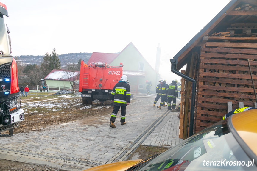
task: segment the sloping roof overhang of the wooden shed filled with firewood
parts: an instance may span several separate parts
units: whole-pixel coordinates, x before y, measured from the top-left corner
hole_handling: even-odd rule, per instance
[[[231,0],[203,29],[200,30],[174,57],[177,70],[180,70],[191,57],[191,52],[201,46],[206,35],[223,30],[233,23],[257,23],[257,10],[234,10],[242,4],[257,6],[256,0]]]

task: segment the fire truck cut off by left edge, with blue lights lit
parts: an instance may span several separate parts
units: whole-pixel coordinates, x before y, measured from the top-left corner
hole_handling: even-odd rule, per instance
[[[13,129],[24,120],[24,111],[21,109],[17,65],[10,55],[9,29],[4,23],[4,16],[8,17],[8,12],[1,2],[0,6],[0,133],[9,130],[9,134],[0,136],[13,136]]]

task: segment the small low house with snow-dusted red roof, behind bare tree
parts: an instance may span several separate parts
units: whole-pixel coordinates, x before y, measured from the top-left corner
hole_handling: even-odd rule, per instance
[[[65,69],[52,70],[45,78],[46,84],[51,88],[69,89],[71,87],[70,81],[79,80],[80,71],[68,72]]]

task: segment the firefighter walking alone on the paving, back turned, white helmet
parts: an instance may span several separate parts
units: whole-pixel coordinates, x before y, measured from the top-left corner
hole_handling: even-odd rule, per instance
[[[126,124],[126,106],[130,103],[130,85],[128,84],[126,75],[122,75],[120,81],[113,87],[111,101],[113,102],[113,112],[110,118],[110,127],[116,128],[114,122],[120,108],[121,124]]]

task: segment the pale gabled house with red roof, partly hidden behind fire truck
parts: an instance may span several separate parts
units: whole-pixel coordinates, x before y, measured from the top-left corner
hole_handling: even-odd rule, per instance
[[[151,92],[155,93],[160,74],[147,62],[143,55],[130,42],[120,53],[93,52],[87,65],[106,63],[111,66],[123,64],[123,75],[128,77],[132,93],[146,94],[146,80],[152,82]]]

